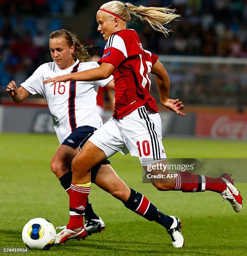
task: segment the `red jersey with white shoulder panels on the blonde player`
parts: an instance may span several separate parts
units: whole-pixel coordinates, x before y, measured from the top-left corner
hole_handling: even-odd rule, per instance
[[[143,49],[133,29],[117,31],[109,36],[104,55],[99,63],[110,63],[115,81],[115,109],[113,117],[120,119],[140,106],[158,112],[155,99],[150,95],[148,74],[158,56]]]

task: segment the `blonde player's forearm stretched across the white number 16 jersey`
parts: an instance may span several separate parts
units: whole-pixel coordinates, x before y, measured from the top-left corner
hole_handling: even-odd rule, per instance
[[[67,82],[69,80],[85,82],[98,81],[108,78],[112,74],[114,69],[115,67],[112,64],[102,63],[98,68],[88,69],[81,72],[66,74],[60,77],[50,78],[43,82],[45,84],[52,82],[52,86],[53,84],[56,84],[56,82]]]

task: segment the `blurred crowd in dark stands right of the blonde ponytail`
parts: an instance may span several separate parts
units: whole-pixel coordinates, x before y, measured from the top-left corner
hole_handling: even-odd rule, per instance
[[[151,0],[150,4],[160,2],[175,6],[181,19],[167,39],[144,31],[148,49],[158,54],[247,57],[246,0]]]

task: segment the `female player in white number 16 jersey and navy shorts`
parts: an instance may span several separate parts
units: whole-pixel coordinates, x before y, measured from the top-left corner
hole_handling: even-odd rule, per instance
[[[59,178],[61,185],[68,194],[71,193],[71,161],[79,152],[92,132],[99,128],[101,118],[94,113],[98,85],[113,86],[112,77],[96,82],[60,82],[53,87],[43,84],[43,79],[54,77],[57,74],[68,74],[98,67],[96,62],[88,62],[89,55],[79,43],[76,36],[69,31],[54,31],[50,35],[50,51],[53,62],[41,65],[31,77],[21,84],[18,89],[12,81],[7,86],[7,92],[14,102],[22,102],[29,95],[39,93],[48,101],[53,117],[54,128],[59,138],[59,146],[51,160],[51,170]],[[167,78],[168,79],[168,78]],[[175,101],[181,107],[181,102]],[[91,168],[92,182],[97,184],[111,195],[121,200],[125,207],[144,218],[163,225],[167,230],[173,228],[173,218],[164,215],[144,195],[130,189],[117,176],[109,161],[104,161]],[[77,207],[81,219],[84,209]],[[92,206],[87,201],[85,210],[87,233],[91,234],[104,228],[102,220],[95,215]],[[82,220],[81,220],[82,221]],[[77,234],[76,234],[77,235]],[[85,236],[81,232],[81,237]],[[73,236],[71,236],[73,238]],[[61,242],[56,240],[56,243]]]

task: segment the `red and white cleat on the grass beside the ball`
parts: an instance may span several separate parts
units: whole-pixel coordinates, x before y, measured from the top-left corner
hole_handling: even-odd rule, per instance
[[[79,241],[80,238],[85,239],[87,236],[87,231],[84,227],[71,230],[67,229],[66,226],[63,226],[57,227],[56,229],[62,229],[62,231],[56,234],[56,240],[54,244],[65,243],[69,239],[77,239],[77,241]]]

